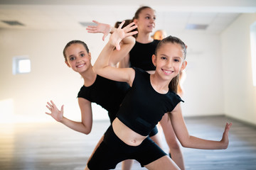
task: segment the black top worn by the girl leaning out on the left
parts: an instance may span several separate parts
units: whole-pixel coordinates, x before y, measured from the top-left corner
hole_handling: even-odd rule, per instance
[[[94,84],[82,86],[78,92],[78,98],[85,98],[105,108],[112,122],[116,118],[119,106],[130,86],[127,83],[112,81],[97,75]]]

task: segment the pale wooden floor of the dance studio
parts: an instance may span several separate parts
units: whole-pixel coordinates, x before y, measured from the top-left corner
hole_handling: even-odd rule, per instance
[[[225,116],[185,118],[185,120],[191,135],[209,140],[220,140],[225,122],[233,122],[228,149],[182,148],[186,169],[256,169],[255,127]],[[92,149],[108,126],[108,121],[95,121],[91,134],[83,135],[60,123],[0,124],[0,169],[84,169]],[[165,142],[164,148],[167,152]],[[121,169],[120,164],[116,169]],[[145,168],[134,162],[132,169]]]

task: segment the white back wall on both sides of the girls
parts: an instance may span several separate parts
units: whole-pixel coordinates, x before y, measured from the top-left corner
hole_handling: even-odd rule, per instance
[[[184,115],[224,113],[220,36],[196,32],[172,33],[188,45]],[[63,47],[70,40],[84,40],[92,52],[92,63],[105,45],[102,35],[85,31],[0,30],[0,117],[1,121],[53,121],[45,112],[52,99],[64,114],[79,120],[76,96],[82,86],[80,75],[67,67]],[[28,55],[31,73],[12,75],[12,57]],[[107,118],[106,111],[93,106],[94,118]]]

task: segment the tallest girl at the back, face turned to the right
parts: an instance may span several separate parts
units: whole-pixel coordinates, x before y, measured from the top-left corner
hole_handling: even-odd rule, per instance
[[[124,60],[119,62],[119,67],[137,67],[147,71],[149,73],[153,73],[156,67],[152,63],[152,55],[154,55],[156,46],[159,43],[159,40],[154,40],[151,38],[151,33],[155,26],[155,11],[149,6],[140,7],[134,15],[132,21],[137,25],[138,34],[136,37],[136,42],[132,50],[129,52],[127,56],[124,57]],[[127,22],[127,21],[126,21]],[[114,28],[111,28],[110,25],[104,23],[97,23],[97,26],[89,26],[87,30],[89,33],[102,33],[101,30],[110,30],[112,33]],[[108,34],[108,32],[103,32],[104,36]],[[178,86],[178,89],[180,86]],[[162,120],[160,121],[161,129],[164,131],[166,143],[169,146],[169,155],[170,157],[178,164],[181,169],[185,169],[185,165],[183,162],[183,154],[181,152],[180,145],[178,144],[178,140],[176,139],[176,135],[174,133],[174,129],[172,128],[171,122],[168,121],[168,115],[164,115]],[[157,128],[149,135],[154,142],[156,142],[159,147],[161,146],[161,139],[158,133]],[[129,163],[126,163],[129,166]],[[130,163],[131,164],[131,163]]]

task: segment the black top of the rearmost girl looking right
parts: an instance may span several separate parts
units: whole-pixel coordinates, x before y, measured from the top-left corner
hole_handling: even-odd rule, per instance
[[[134,47],[129,52],[131,67],[137,67],[145,71],[155,70],[156,67],[152,63],[152,55],[154,55],[159,42],[160,40],[154,40],[146,44],[135,42]]]

